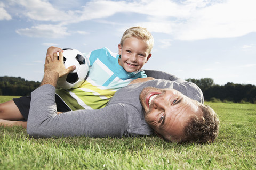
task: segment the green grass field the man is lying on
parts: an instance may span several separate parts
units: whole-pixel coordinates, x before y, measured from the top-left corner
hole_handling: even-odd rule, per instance
[[[1,103],[12,97],[0,96]],[[256,105],[206,103],[219,115],[211,145],[157,137],[32,138],[0,127],[0,169],[256,169]]]

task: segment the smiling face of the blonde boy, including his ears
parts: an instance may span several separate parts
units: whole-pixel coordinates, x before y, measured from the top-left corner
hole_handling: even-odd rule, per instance
[[[135,37],[126,38],[123,46],[118,45],[118,49],[119,55],[121,55],[118,63],[129,73],[140,70],[151,57],[146,43]]]

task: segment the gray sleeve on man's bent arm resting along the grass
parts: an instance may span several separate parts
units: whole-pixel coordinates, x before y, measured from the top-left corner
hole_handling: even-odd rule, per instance
[[[57,114],[55,87],[44,85],[31,93],[27,133],[35,137],[122,137],[126,122],[122,105],[98,110],[78,110]],[[110,114],[111,113],[111,114]]]

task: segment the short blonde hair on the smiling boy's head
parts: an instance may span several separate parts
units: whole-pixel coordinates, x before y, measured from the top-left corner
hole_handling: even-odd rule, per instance
[[[127,29],[124,32],[123,37],[121,38],[121,41],[120,41],[121,46],[123,46],[124,40],[126,38],[131,38],[131,37],[142,39],[147,45],[148,52],[151,53],[151,50],[154,44],[154,38],[146,28],[131,27]]]

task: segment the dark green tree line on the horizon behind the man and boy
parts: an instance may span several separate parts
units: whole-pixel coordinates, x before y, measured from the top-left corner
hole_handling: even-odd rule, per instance
[[[211,78],[186,79],[197,84],[203,91],[205,101],[231,101],[234,103],[255,103],[256,86],[228,82],[220,86]],[[40,86],[40,82],[28,81],[21,77],[0,77],[0,95],[27,96]]]

